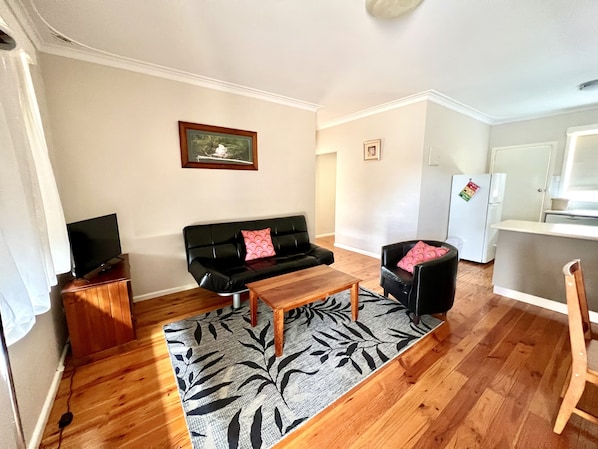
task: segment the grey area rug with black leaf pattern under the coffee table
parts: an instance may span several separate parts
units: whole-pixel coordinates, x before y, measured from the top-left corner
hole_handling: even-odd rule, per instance
[[[347,290],[288,312],[277,358],[258,304],[255,327],[248,302],[164,326],[195,449],[273,446],[441,323],[364,288],[351,321]]]

